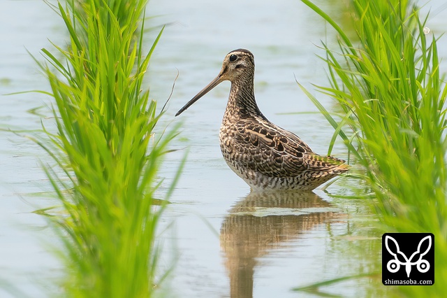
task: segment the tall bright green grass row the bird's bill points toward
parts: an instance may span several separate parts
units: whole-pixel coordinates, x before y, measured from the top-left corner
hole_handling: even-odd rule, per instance
[[[56,132],[43,126],[36,142],[59,166],[45,166],[63,206],[62,215],[48,218],[64,243],[68,297],[149,297],[163,277],[156,271],[155,240],[164,203],[154,206],[154,192],[176,129],[155,136],[163,109],[156,111],[142,87],[163,31],[145,52],[146,4],[68,0],[52,6],[70,43],[54,45],[54,55],[42,50]]]

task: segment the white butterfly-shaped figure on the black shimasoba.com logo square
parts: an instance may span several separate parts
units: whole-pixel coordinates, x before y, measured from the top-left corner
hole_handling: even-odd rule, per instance
[[[428,247],[422,253],[420,250],[425,241],[427,241]],[[391,245],[391,243],[393,243],[394,245]],[[388,271],[390,271],[391,273],[399,271],[401,265],[405,266],[406,277],[408,278],[410,277],[411,266],[413,265],[416,265],[416,268],[420,273],[425,273],[430,269],[430,263],[427,260],[423,260],[423,257],[427,255],[428,251],[432,247],[432,237],[425,236],[423,239],[421,239],[418,244],[418,249],[410,257],[406,257],[406,255],[402,253],[402,251],[400,251],[399,244],[392,236],[386,235],[385,246],[386,250],[388,250],[388,253],[390,253],[390,255],[393,255],[394,257],[394,260],[390,260],[386,264],[386,269],[388,269]],[[399,256],[401,256],[401,260],[403,257],[403,260],[405,260],[405,262],[399,260]],[[413,260],[416,258],[417,260]]]

